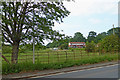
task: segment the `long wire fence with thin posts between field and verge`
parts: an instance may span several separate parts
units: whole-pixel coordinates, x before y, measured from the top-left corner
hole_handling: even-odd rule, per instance
[[[11,60],[11,54],[3,54],[8,61]],[[94,51],[88,53],[84,50],[59,50],[59,51],[36,51],[35,52],[35,63],[58,63],[65,61],[78,61],[82,59],[92,58],[92,57],[100,57],[100,56],[113,56],[118,55],[117,51],[104,52],[104,51]],[[2,59],[3,63],[5,60]],[[19,53],[18,63],[22,62],[32,62],[33,61],[33,53]]]

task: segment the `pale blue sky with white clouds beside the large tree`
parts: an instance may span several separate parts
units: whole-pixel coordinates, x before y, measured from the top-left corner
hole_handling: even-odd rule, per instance
[[[63,19],[63,23],[55,23],[54,30],[63,30],[68,36],[81,32],[87,37],[90,31],[107,32],[118,26],[119,0],[75,0],[63,1],[64,6],[71,13]]]

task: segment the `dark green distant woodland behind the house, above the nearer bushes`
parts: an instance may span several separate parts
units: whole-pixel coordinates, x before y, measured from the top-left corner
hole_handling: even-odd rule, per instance
[[[115,35],[120,37],[120,27],[114,28]],[[86,43],[100,43],[104,38],[113,34],[113,28],[109,29],[107,32],[102,32],[97,34],[95,31],[90,31],[87,38],[83,36],[81,32],[76,32],[73,37],[67,36],[60,41],[53,41],[46,45],[47,48],[59,47],[61,49],[68,49],[69,42],[86,42]],[[114,37],[113,37],[114,39]],[[114,39],[115,40],[115,39]],[[116,40],[118,41],[118,40]]]

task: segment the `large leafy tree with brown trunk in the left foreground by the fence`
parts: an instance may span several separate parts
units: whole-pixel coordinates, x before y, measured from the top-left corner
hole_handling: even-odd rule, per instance
[[[69,15],[62,2],[2,2],[2,35],[12,45],[11,62],[18,62],[21,42],[41,43],[44,39],[61,39],[63,35],[52,29]]]

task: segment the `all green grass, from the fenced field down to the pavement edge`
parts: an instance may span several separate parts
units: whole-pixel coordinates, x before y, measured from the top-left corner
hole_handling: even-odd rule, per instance
[[[3,54],[8,60],[11,60],[11,54]],[[94,64],[103,61],[112,61],[118,59],[118,54],[111,53],[87,53],[84,50],[62,50],[47,51],[41,50],[35,52],[35,64],[32,63],[32,52],[19,53],[18,64],[9,65],[4,60],[2,63],[2,74],[18,73],[21,71],[34,71],[44,69],[60,69],[74,65]]]

